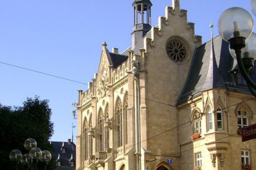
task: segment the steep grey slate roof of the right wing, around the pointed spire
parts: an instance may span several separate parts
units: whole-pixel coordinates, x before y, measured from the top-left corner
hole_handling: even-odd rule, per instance
[[[236,85],[231,72],[233,65],[234,60],[229,53],[229,44],[220,36],[196,48],[187,81],[177,105],[202,95],[202,91],[213,88],[249,94],[247,87]],[[254,68],[251,76],[254,80],[256,80],[255,70]]]

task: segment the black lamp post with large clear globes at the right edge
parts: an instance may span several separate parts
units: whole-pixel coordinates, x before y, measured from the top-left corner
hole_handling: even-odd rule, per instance
[[[252,0],[252,6],[256,8],[256,0]],[[256,97],[256,83],[250,78],[256,57],[256,35],[252,30],[252,16],[241,7],[231,7],[220,16],[220,36],[229,42],[230,54],[237,61],[251,94]]]

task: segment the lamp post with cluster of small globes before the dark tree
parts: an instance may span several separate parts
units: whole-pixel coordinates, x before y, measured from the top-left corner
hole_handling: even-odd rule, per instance
[[[35,139],[28,138],[24,142],[24,147],[26,150],[29,150],[29,154],[21,154],[21,151],[18,149],[14,149],[10,152],[10,159],[12,162],[15,162],[16,164],[16,170],[18,167],[19,162],[23,166],[25,166],[27,169],[32,169],[32,163],[34,163],[34,170],[37,170],[37,163],[38,160],[41,160],[45,164],[45,170],[46,166],[49,164],[52,155],[49,151],[43,150],[41,151],[40,148],[37,148],[37,143]]]

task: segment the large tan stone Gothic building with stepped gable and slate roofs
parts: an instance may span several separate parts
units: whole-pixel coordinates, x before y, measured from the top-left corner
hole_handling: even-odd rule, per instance
[[[150,0],[132,6],[131,46],[103,43],[98,73],[78,90],[76,169],[256,168],[255,140],[239,135],[256,103],[228,43],[202,44],[179,0],[156,27]]]

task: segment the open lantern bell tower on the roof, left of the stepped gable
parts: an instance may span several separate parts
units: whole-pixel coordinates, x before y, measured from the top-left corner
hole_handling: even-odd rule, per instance
[[[132,32],[132,49],[141,41],[151,29],[151,6],[150,0],[135,0],[132,4],[134,22]]]

